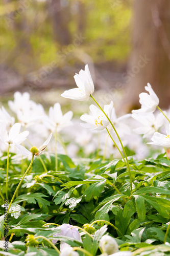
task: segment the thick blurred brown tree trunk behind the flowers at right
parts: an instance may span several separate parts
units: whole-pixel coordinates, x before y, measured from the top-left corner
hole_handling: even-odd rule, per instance
[[[128,71],[124,106],[139,107],[139,93],[151,83],[160,106],[170,104],[170,1],[135,0],[132,53]]]

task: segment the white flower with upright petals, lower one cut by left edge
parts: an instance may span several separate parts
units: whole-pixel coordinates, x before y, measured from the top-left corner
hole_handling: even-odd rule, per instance
[[[4,142],[4,144],[8,145],[9,143],[11,145],[15,145],[22,143],[23,141],[26,140],[27,136],[29,135],[28,131],[19,133],[20,131],[20,123],[15,123],[10,131],[9,134],[7,133],[7,129],[6,129],[6,124],[2,123],[0,125],[0,139],[2,140],[2,142]]]

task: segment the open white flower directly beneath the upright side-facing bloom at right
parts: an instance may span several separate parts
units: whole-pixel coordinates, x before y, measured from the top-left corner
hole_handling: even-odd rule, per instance
[[[142,124],[142,126],[133,131],[137,134],[143,134],[143,138],[152,136],[155,130],[157,131],[163,125],[165,119],[162,113],[159,113],[156,117],[153,113],[144,116],[134,113],[132,117]]]

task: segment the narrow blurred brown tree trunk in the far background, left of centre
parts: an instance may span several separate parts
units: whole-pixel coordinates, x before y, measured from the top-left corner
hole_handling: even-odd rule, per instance
[[[55,40],[61,45],[69,45],[71,35],[69,32],[70,9],[68,1],[51,0],[48,3],[49,16],[53,22]]]

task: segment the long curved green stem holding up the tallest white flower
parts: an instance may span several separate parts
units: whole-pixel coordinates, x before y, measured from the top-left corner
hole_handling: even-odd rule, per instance
[[[94,100],[94,102],[99,106],[100,110],[101,110],[101,111],[104,113],[104,115],[107,117],[108,121],[110,122],[110,124],[111,124],[111,126],[112,126],[112,128],[113,128],[115,134],[117,135],[117,138],[118,138],[118,140],[119,140],[119,142],[120,142],[120,144],[121,144],[121,146],[122,146],[122,149],[123,149],[123,152],[124,152],[126,161],[127,161],[127,168],[128,168],[128,170],[129,170],[130,187],[131,187],[131,193],[132,193],[132,175],[131,175],[131,170],[130,170],[130,166],[129,166],[127,154],[126,154],[125,148],[124,148],[124,146],[123,146],[123,144],[122,144],[122,140],[120,139],[120,137],[119,137],[119,135],[118,135],[118,133],[117,133],[117,131],[116,131],[116,129],[115,129],[113,123],[111,122],[110,118],[107,116],[107,114],[105,113],[105,111],[101,108],[101,106],[99,105],[99,103],[93,98],[92,95],[90,95],[90,97]]]

